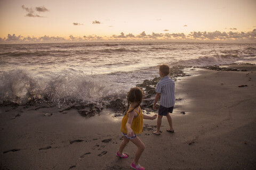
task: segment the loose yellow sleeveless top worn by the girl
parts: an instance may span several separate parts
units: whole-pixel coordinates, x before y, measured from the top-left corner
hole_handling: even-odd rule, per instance
[[[127,112],[131,111],[131,109],[133,109],[133,108],[129,108],[129,110]],[[139,107],[139,109],[140,109],[139,113],[135,109],[133,110],[138,114],[138,116],[136,118],[133,118],[132,124],[131,124],[131,128],[135,134],[140,134],[142,132],[142,127],[143,127],[143,115],[142,115],[142,111],[141,111],[140,107]],[[121,129],[120,129],[121,132],[123,132],[125,134],[127,134],[127,130],[126,130],[127,120],[128,120],[128,116],[126,113],[122,119]]]

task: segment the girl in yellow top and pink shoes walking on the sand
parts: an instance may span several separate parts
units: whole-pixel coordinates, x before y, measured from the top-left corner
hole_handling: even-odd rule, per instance
[[[116,152],[117,157],[127,158],[128,156],[123,153],[123,150],[127,143],[130,141],[133,142],[138,149],[135,152],[135,157],[131,163],[131,167],[139,170],[145,169],[139,164],[139,159],[145,149],[145,145],[136,134],[140,134],[142,132],[143,119],[154,120],[157,117],[156,114],[154,116],[142,114],[140,108],[142,98],[143,92],[140,88],[131,88],[127,95],[127,112],[125,113],[121,124],[121,132],[124,134],[124,140],[122,141],[119,150]]]

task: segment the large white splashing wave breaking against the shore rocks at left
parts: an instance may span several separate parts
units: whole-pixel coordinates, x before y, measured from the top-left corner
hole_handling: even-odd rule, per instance
[[[61,75],[33,77],[26,70],[12,70],[0,75],[0,103],[65,103],[72,101],[100,101],[123,94],[104,75],[95,77],[83,73],[63,71]]]

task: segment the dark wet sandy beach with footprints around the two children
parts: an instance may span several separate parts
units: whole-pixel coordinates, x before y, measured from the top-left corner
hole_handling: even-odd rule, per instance
[[[178,78],[179,100],[171,115],[175,133],[165,131],[166,118],[159,136],[152,133],[156,120],[145,120],[141,166],[256,169],[256,65],[223,67],[244,71],[194,68],[186,69],[191,76]],[[122,117],[111,109],[90,118],[60,110],[0,107],[0,169],[132,169],[132,143],[124,150],[129,158],[115,156]]]

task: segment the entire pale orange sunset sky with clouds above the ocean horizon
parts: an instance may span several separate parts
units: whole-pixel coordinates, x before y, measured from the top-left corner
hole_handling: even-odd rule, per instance
[[[0,43],[256,43],[255,0],[0,0]]]

